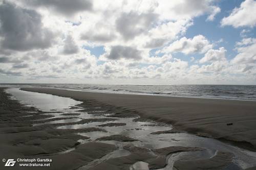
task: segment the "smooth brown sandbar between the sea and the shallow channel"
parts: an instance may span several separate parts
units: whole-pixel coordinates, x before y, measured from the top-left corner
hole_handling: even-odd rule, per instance
[[[48,88],[22,90],[94,101],[132,110],[141,118],[172,124],[177,130],[256,149],[256,102],[111,94]]]

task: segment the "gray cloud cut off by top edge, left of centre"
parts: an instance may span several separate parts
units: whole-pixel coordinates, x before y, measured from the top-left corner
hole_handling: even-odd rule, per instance
[[[89,0],[23,0],[27,5],[33,7],[46,7],[54,12],[70,16],[81,11],[90,11],[93,1]]]

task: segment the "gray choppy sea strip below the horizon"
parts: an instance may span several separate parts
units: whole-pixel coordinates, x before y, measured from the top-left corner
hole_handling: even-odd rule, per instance
[[[182,96],[256,101],[256,85],[125,85],[125,84],[0,84],[1,87],[44,87],[103,93]]]

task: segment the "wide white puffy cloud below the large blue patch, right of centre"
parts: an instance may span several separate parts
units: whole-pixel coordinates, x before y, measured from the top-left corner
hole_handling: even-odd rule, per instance
[[[161,51],[162,53],[177,53],[181,52],[186,55],[193,53],[205,53],[210,48],[212,44],[203,36],[197,35],[191,38],[182,37],[180,40],[174,41],[167,47],[164,47]]]

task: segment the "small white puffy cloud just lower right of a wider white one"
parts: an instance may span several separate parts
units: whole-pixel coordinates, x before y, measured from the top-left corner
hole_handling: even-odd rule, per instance
[[[226,61],[225,53],[226,50],[224,47],[220,47],[219,50],[210,49],[205,53],[204,57],[199,60],[199,63]]]

